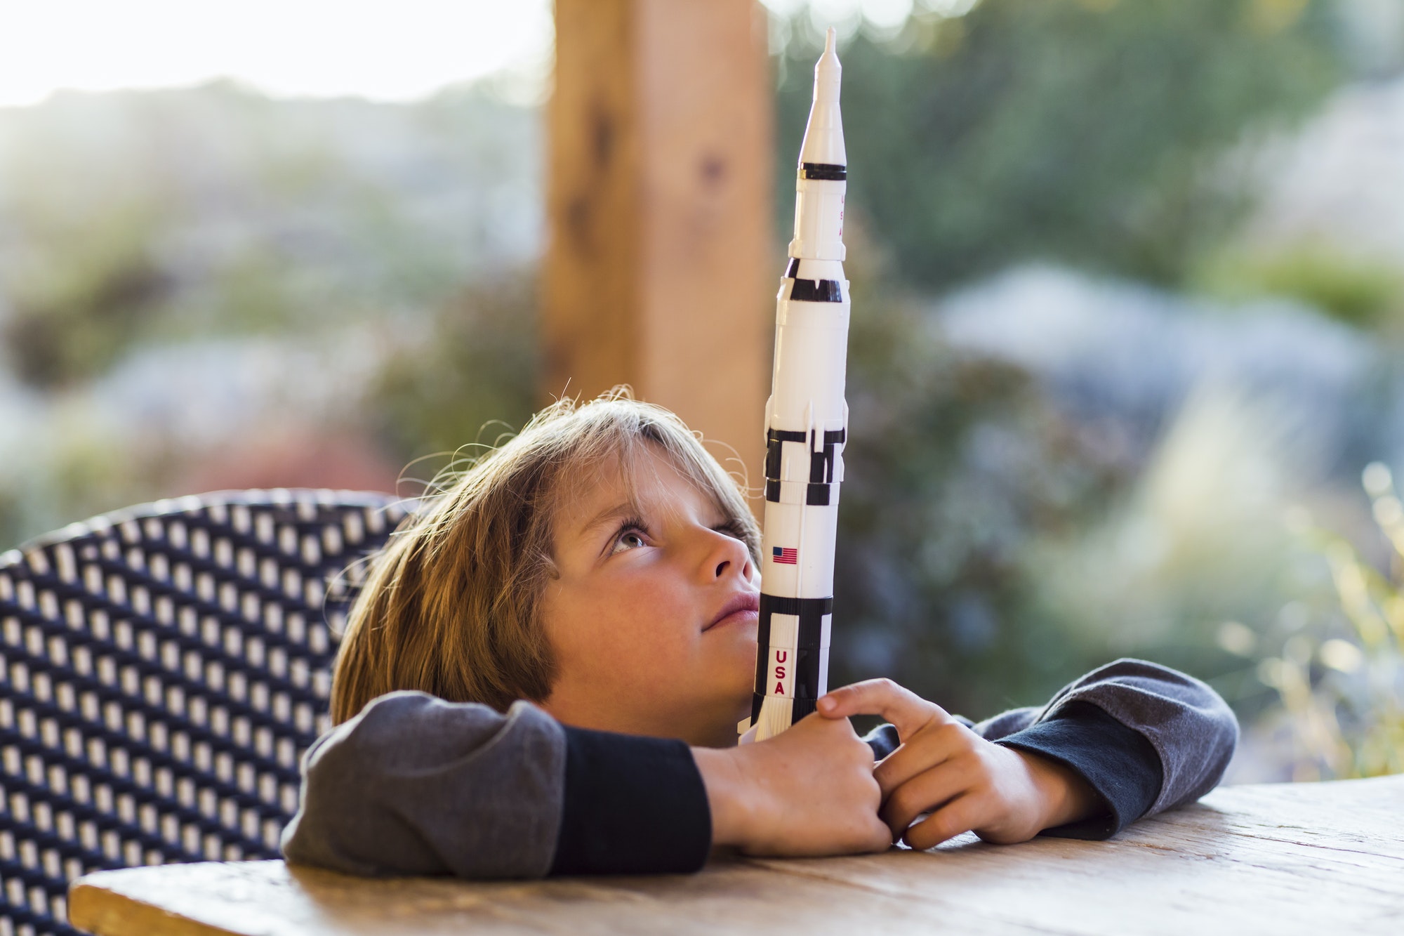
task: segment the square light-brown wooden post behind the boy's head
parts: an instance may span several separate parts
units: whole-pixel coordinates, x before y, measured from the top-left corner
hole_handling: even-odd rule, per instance
[[[754,0],[556,0],[543,394],[630,384],[753,488],[783,264],[771,90]]]

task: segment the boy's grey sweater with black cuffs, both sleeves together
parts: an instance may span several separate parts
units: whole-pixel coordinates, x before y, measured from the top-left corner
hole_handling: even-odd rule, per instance
[[[1202,797],[1238,736],[1205,683],[1132,659],[972,727],[1092,786],[1105,810],[1050,831],[1077,838]],[[868,741],[885,756],[896,731]],[[682,742],[564,727],[525,701],[501,714],[413,691],[382,696],[317,739],[282,836],[289,862],[470,878],[688,871],[709,847],[706,790]]]

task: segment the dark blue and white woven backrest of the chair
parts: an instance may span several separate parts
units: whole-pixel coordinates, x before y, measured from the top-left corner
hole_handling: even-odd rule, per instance
[[[389,495],[243,490],[0,555],[0,936],[98,869],[275,857]]]

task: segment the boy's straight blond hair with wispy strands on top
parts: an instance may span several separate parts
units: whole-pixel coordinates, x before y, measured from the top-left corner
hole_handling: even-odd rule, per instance
[[[498,711],[545,700],[556,668],[538,606],[555,575],[556,516],[590,467],[636,464],[643,446],[710,496],[758,555],[741,485],[681,419],[628,388],[580,406],[557,401],[466,471],[441,476],[439,493],[375,557],[341,638],[331,721],[397,689]]]

